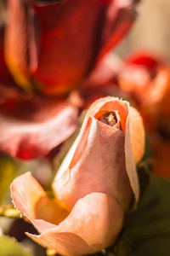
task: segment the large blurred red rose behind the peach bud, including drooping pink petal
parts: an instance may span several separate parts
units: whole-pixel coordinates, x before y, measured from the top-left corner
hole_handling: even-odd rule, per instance
[[[67,0],[43,6],[8,0],[1,33],[1,152],[37,158],[71,135],[77,106],[68,93],[82,86],[94,64],[126,34],[137,2]]]

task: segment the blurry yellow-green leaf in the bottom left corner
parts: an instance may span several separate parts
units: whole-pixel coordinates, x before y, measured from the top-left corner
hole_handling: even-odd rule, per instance
[[[0,236],[0,255],[1,256],[33,256],[26,248],[14,237]]]

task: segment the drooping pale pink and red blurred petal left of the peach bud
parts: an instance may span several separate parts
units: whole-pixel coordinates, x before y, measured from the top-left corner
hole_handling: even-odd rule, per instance
[[[29,106],[29,108],[28,108]],[[0,150],[14,157],[41,157],[77,127],[77,108],[66,101],[32,97],[0,108]]]

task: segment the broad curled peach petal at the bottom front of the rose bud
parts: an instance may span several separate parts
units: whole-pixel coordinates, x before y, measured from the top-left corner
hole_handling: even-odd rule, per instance
[[[77,201],[70,215],[40,236],[27,234],[64,255],[85,255],[111,246],[122,229],[122,207],[110,196],[92,193]]]

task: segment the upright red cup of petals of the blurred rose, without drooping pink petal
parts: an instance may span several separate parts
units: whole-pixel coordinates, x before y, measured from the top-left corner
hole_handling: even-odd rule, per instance
[[[8,0],[6,60],[21,86],[31,90],[33,80],[46,94],[64,94],[82,83],[99,52],[102,59],[136,17],[133,0],[28,3],[34,2]]]

